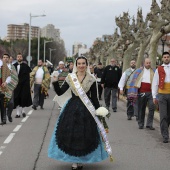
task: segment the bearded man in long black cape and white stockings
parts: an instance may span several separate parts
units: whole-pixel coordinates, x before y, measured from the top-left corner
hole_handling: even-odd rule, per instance
[[[23,62],[22,54],[17,55],[17,62],[14,64],[18,73],[18,85],[14,90],[14,108],[17,108],[16,118],[25,117],[24,107],[32,105],[30,90],[30,67]]]

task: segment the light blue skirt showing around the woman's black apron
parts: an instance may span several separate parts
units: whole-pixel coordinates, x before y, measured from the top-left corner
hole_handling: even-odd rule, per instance
[[[63,109],[61,110],[60,114],[62,114]],[[54,131],[51,137],[51,141],[48,147],[49,158],[53,158],[53,159],[64,161],[64,162],[72,162],[72,163],[74,162],[75,163],[94,163],[94,162],[101,162],[108,158],[108,154],[106,150],[104,149],[104,143],[101,138],[100,138],[98,147],[88,155],[76,157],[76,156],[68,155],[67,153],[63,152],[62,150],[58,148],[58,145],[56,144],[55,133],[57,130],[57,124],[58,124],[58,120],[56,122]]]

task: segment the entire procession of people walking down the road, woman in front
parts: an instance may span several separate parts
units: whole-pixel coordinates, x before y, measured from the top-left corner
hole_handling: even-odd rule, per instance
[[[145,58],[142,67],[136,68],[136,61],[122,74],[120,66],[112,58],[105,68],[89,64],[84,56],[65,65],[63,61],[56,68],[46,67],[40,59],[31,68],[23,61],[22,54],[13,58],[4,54],[0,59],[0,109],[1,125],[8,117],[25,117],[25,107],[44,109],[50,83],[58,100],[64,100],[51,137],[48,156],[53,159],[72,162],[72,169],[82,169],[83,163],[99,162],[111,158],[111,147],[107,139],[105,116],[117,112],[119,94],[127,97],[127,120],[135,116],[139,129],[155,130],[153,119],[155,109],[160,113],[160,129],[163,143],[169,142],[170,125],[170,54],[164,52],[161,66],[151,68],[151,61]],[[33,90],[32,90],[33,88]],[[64,98],[70,90],[70,98]],[[102,94],[104,92],[104,94]],[[33,99],[31,97],[33,93]],[[68,94],[68,93],[67,93]],[[104,96],[105,108],[99,100]],[[68,97],[68,96],[67,96]],[[110,109],[111,106],[111,109]],[[145,112],[148,116],[145,124]],[[97,116],[96,116],[97,115]]]

